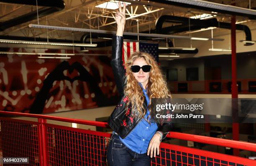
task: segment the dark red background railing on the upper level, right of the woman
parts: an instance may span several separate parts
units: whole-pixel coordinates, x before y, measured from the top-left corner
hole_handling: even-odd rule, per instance
[[[256,79],[238,79],[237,81],[239,94],[256,94],[256,85],[253,83]],[[169,81],[168,85],[172,93],[231,94],[231,80]],[[252,88],[254,91],[250,90]]]

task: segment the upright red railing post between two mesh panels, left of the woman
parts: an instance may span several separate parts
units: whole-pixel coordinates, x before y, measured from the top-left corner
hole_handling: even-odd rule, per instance
[[[46,131],[46,119],[38,118],[39,122],[39,154],[40,154],[40,166],[47,166],[47,131]]]

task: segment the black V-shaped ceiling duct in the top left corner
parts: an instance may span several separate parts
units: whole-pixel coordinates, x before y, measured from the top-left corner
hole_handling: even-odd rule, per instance
[[[15,25],[20,25],[22,23],[26,23],[28,21],[35,20],[37,18],[41,18],[46,15],[61,11],[65,8],[65,3],[63,0],[38,0],[37,4],[36,0],[0,0],[0,2],[44,6],[44,8],[38,9],[38,13],[37,10],[34,10],[30,13],[26,13],[19,17],[0,23],[0,31],[3,31]]]

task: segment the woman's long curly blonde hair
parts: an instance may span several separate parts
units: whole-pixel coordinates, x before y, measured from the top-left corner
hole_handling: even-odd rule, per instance
[[[133,76],[133,73],[131,71],[131,66],[133,65],[133,62],[137,58],[144,58],[146,63],[148,65],[151,65],[151,70],[149,73],[148,84],[147,84],[147,94],[148,94],[148,98],[150,99],[148,110],[150,111],[150,114],[151,114],[151,109],[150,109],[151,98],[172,98],[172,96],[168,91],[167,84],[164,79],[165,77],[161,73],[161,69],[159,65],[156,63],[156,61],[154,60],[154,57],[152,57],[148,53],[144,53],[140,51],[134,52],[125,63],[127,83],[124,88],[124,95],[128,97],[128,103],[126,106],[129,106],[129,105],[132,106],[132,111],[137,110],[136,112],[133,112],[135,116],[143,117],[147,111],[145,110],[145,108],[143,108],[143,102],[146,99],[143,96],[141,86],[138,84],[138,81]],[[148,121],[148,118],[147,118],[147,121]],[[150,122],[148,121],[148,123]]]

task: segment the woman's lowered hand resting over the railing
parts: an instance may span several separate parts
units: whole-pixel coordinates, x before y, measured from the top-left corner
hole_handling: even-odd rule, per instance
[[[148,153],[147,155],[150,154],[150,157],[152,158],[153,157],[153,154],[154,154],[154,157],[156,157],[156,151],[157,151],[157,155],[159,155],[159,151],[160,151],[160,138],[161,138],[161,135],[159,133],[155,133],[155,135],[152,137],[149,145],[148,145]]]

